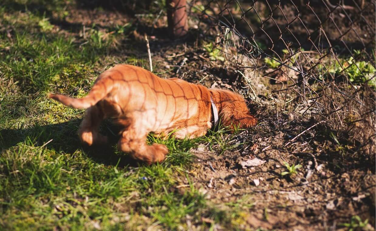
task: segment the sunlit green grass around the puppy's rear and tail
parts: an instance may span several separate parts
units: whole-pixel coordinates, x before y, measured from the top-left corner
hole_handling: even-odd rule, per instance
[[[12,27],[10,37],[0,34],[1,229],[177,229],[186,228],[187,216],[199,223],[203,215],[218,223],[232,220],[237,211],[209,205],[193,184],[183,192],[176,186],[179,177],[189,181],[191,148],[210,143],[223,152],[236,147],[233,135],[224,129],[194,140],[150,135],[150,142],[171,150],[164,163],[151,166],[129,166],[115,143],[84,148],[76,136],[83,111],[46,95],[85,95],[111,44],[94,27],[87,42],[58,35],[38,12],[0,8],[0,20]],[[102,130],[111,136],[109,128]]]

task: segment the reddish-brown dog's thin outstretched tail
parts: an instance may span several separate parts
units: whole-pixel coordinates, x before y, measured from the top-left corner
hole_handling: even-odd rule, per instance
[[[106,86],[106,83],[103,83],[102,80],[98,83],[95,83],[92,89],[90,90],[89,94],[80,99],[75,99],[68,96],[53,93],[50,93],[48,97],[51,99],[55,99],[56,101],[59,101],[62,104],[71,108],[88,108],[92,105],[95,105],[98,101],[102,100],[103,98],[105,98],[106,95],[108,95],[108,93],[111,92],[112,87],[112,84]]]

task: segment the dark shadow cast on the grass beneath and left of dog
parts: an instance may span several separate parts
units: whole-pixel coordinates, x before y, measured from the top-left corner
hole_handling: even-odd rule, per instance
[[[35,125],[20,129],[0,130],[0,145],[2,150],[17,146],[19,143],[32,144],[33,146],[45,145],[49,150],[60,153],[75,153],[82,150],[94,162],[118,167],[139,166],[142,162],[133,160],[129,155],[117,150],[119,128],[106,121],[101,133],[108,136],[109,144],[93,145],[88,147],[81,144],[77,130],[81,120],[71,120],[63,123]],[[22,126],[22,125],[21,125]]]

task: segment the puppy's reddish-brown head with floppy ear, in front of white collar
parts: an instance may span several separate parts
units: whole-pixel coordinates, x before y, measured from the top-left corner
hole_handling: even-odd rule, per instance
[[[214,102],[219,105],[219,115],[224,126],[248,128],[257,124],[243,96],[229,90],[211,89]],[[214,93],[215,92],[215,93]]]

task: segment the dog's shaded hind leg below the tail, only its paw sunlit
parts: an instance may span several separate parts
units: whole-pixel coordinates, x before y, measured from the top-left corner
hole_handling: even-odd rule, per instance
[[[85,116],[78,130],[81,141],[85,144],[105,144],[107,137],[99,133],[99,125],[105,115],[99,110],[97,105],[86,109]]]

